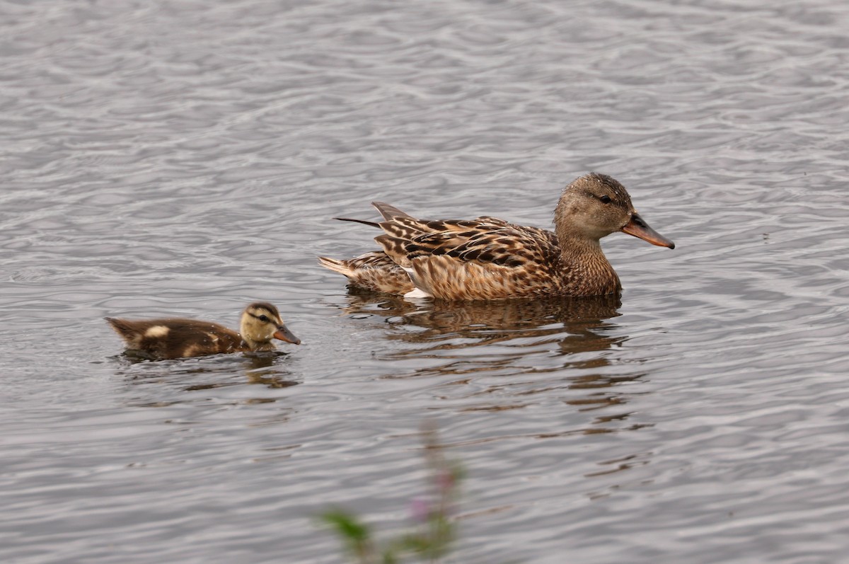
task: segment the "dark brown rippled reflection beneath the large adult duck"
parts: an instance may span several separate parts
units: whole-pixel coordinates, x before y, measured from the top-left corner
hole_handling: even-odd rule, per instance
[[[453,383],[468,384],[474,376],[510,376],[488,380],[483,390],[476,386],[465,398],[486,398],[485,404],[465,410],[517,409],[534,396],[557,394],[558,389],[569,391],[562,401],[582,411],[613,407],[627,402],[619,386],[644,376],[644,372],[623,374],[607,353],[628,338],[614,331],[618,325],[610,321],[620,315],[618,295],[411,302],[352,290],[347,299],[345,313],[383,318],[390,325],[386,339],[412,346],[396,347],[382,358],[426,361],[412,373],[387,378],[458,375],[461,380]],[[513,400],[504,402],[505,396]],[[606,414],[582,432],[621,430],[621,421],[629,415]]]

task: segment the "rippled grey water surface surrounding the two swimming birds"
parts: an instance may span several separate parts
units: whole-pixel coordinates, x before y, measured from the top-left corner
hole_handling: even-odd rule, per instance
[[[433,420],[457,562],[849,554],[849,8],[838,0],[0,0],[0,559],[337,562]],[[371,200],[548,227],[621,180],[675,251],[609,300],[348,295]],[[131,363],[101,319],[304,344]]]

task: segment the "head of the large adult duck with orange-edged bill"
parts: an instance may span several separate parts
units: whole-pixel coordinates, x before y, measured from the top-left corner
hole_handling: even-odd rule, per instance
[[[577,241],[598,244],[616,231],[639,237],[652,245],[675,248],[675,243],[649,227],[631,203],[631,196],[615,178],[590,172],[563,190],[554,210],[554,231],[563,248]]]

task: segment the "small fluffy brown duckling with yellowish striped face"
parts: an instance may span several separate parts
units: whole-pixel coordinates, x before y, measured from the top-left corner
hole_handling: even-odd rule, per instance
[[[105,319],[127,341],[128,350],[157,359],[273,351],[272,339],[301,344],[301,339],[284,325],[277,307],[267,302],[254,302],[245,307],[239,333],[197,319]]]

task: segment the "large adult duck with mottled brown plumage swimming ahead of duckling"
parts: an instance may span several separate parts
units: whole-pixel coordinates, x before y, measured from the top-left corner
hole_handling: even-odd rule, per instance
[[[416,219],[372,202],[381,228],[381,251],[318,262],[344,274],[352,288],[442,300],[499,300],[543,296],[604,296],[621,291],[599,240],[622,231],[652,245],[675,244],[649,227],[616,179],[590,172],[563,190],[554,210],[554,233],[496,217]]]

